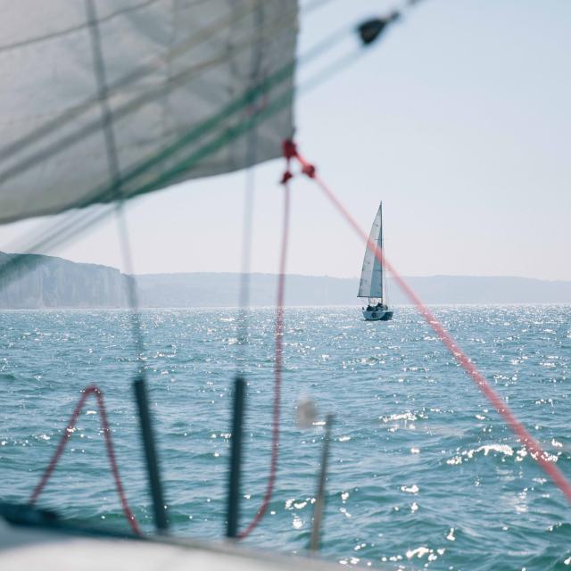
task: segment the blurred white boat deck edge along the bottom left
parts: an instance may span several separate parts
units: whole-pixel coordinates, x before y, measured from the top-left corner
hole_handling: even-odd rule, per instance
[[[12,525],[0,517],[2,571],[327,571],[335,568],[338,566],[319,559],[277,557],[230,542],[67,534],[59,529]]]

